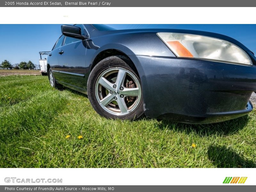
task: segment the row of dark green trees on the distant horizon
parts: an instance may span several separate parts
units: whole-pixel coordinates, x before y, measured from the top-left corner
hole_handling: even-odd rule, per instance
[[[36,65],[32,62],[32,61],[21,61],[20,63],[15,63],[14,65],[12,65],[8,60],[4,60],[1,65],[0,68],[3,69],[36,69]]]

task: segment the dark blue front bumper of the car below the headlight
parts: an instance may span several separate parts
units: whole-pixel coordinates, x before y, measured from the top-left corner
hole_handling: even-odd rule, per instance
[[[256,91],[256,66],[199,59],[129,56],[142,84],[145,115],[206,124],[244,116]]]

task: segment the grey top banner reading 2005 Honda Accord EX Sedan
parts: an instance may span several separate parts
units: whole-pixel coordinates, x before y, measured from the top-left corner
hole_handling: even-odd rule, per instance
[[[147,1],[120,1],[120,0],[57,0],[57,1],[40,1],[40,0],[16,0],[16,1],[1,1],[1,7],[255,7],[256,1],[244,0],[181,0],[181,1],[166,1],[166,0],[147,0]],[[216,12],[218,10],[216,9]],[[226,13],[223,13],[226,15]]]

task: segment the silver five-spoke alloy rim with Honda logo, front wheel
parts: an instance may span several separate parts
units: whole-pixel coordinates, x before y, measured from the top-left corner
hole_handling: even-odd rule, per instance
[[[140,82],[125,68],[109,68],[98,77],[95,96],[100,107],[106,112],[116,116],[127,115],[140,103]]]

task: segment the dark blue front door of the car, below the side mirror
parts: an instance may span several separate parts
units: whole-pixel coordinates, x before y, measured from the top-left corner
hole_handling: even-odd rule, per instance
[[[82,35],[87,35],[84,25],[75,26],[81,28]],[[86,40],[66,36],[59,50],[59,80],[85,90],[86,47]]]

